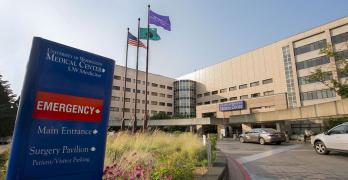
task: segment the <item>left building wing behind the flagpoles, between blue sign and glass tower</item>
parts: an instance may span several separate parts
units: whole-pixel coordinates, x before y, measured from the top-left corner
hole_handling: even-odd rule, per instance
[[[138,94],[137,109],[135,110],[135,86],[136,79],[134,69],[128,68],[127,79],[125,78],[125,67],[116,66],[112,97],[110,105],[110,120],[122,120],[122,108],[125,101],[125,120],[134,119],[134,112],[137,112],[137,119],[145,117],[145,72],[138,71]],[[124,83],[127,83],[126,97],[124,98]],[[148,75],[148,114],[154,115],[159,112],[173,115],[174,111],[174,88],[175,79],[161,75]]]

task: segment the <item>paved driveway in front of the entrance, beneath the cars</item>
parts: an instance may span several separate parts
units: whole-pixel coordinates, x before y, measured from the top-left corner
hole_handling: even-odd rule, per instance
[[[347,153],[325,156],[310,144],[260,145],[232,139],[219,141],[217,147],[227,156],[231,180],[348,179]]]

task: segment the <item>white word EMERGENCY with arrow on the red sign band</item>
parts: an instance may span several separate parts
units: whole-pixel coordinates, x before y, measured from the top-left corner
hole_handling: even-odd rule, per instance
[[[99,114],[100,110],[92,106],[83,106],[76,104],[64,104],[58,102],[37,101],[36,110],[67,112],[73,114]]]

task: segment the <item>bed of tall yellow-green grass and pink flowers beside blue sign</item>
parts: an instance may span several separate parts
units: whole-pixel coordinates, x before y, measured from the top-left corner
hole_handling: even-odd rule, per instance
[[[104,179],[193,179],[206,165],[206,149],[191,133],[125,132],[108,136]]]

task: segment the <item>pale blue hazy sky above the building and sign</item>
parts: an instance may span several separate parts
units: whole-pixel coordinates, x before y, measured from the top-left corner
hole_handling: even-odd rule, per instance
[[[173,78],[348,15],[347,0],[0,0],[0,74],[20,95],[34,36],[124,65],[127,27],[146,26],[148,4],[172,25],[150,42],[149,71]]]

